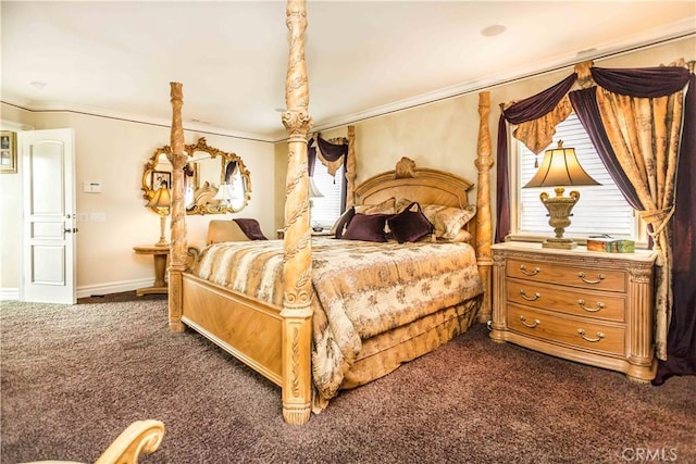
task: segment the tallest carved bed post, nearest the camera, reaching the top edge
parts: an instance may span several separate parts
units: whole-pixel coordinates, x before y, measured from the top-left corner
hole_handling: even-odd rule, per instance
[[[304,424],[311,412],[312,243],[309,217],[307,134],[309,84],[304,62],[304,0],[288,0],[289,59],[285,81],[283,125],[288,131],[288,165],[285,191],[285,261],[283,266],[283,417]]]

